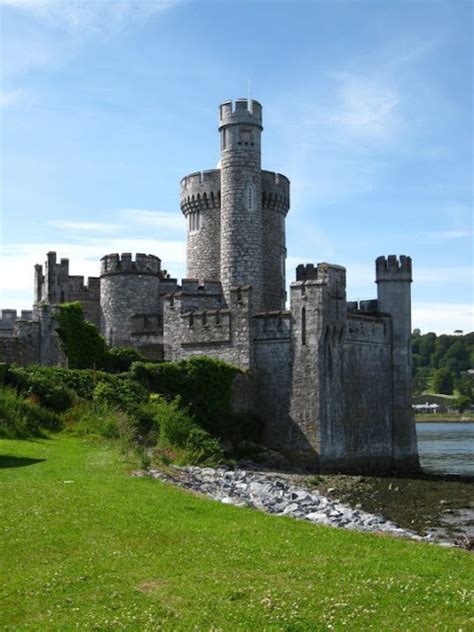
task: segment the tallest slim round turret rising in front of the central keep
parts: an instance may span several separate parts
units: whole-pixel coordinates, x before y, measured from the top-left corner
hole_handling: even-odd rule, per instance
[[[262,129],[262,106],[257,101],[221,104],[220,278],[228,302],[232,286],[251,285],[256,311],[264,309]]]

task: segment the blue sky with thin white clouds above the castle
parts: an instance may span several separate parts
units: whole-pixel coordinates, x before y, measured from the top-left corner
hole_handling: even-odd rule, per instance
[[[463,0],[0,0],[1,298],[29,308],[48,250],[185,275],[179,180],[219,159],[217,106],[264,107],[291,180],[288,278],[413,258],[413,326],[473,329],[472,12]]]

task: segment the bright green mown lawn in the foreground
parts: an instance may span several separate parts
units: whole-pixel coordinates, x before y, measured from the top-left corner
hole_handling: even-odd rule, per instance
[[[90,439],[0,454],[1,629],[470,627],[464,551],[215,503]]]

